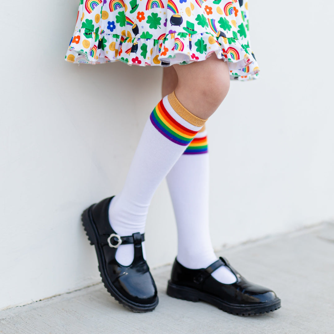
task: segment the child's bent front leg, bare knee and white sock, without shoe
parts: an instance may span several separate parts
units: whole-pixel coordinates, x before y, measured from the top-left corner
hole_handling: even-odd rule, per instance
[[[165,96],[153,110],[124,188],[110,205],[110,222],[120,235],[144,232],[156,188],[228,91],[227,64],[215,55],[197,63],[174,65],[174,68],[178,73],[175,95]],[[124,265],[130,264],[133,246],[121,245],[116,259]]]

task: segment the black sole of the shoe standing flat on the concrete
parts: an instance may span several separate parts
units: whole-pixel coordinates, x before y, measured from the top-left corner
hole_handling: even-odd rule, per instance
[[[281,300],[279,298],[267,304],[255,304],[252,306],[230,304],[224,302],[220,298],[196,289],[173,284],[170,280],[168,281],[167,295],[190,302],[207,302],[224,312],[241,316],[269,313],[278,310],[281,307]]]

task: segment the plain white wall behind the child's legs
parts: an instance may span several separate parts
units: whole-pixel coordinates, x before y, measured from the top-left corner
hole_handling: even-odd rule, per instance
[[[261,77],[232,82],[208,121],[216,248],[334,218],[334,8],[300,4],[250,2]],[[76,0],[14,7],[0,12],[0,308],[100,280],[81,211],[120,191],[161,98],[159,67],[63,61]],[[165,182],[146,239],[151,267],[173,261]]]

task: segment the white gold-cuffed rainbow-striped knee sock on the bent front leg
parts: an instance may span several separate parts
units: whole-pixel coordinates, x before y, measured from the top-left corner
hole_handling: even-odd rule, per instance
[[[155,190],[205,121],[185,109],[174,92],[157,104],[145,125],[124,187],[110,204],[109,220],[116,233],[144,233]],[[116,260],[122,265],[130,265],[133,256],[133,245],[118,247]]]

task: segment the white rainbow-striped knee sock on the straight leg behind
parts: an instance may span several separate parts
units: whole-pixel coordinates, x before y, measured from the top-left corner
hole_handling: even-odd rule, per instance
[[[209,154],[206,130],[198,132],[167,175],[178,233],[177,260],[186,268],[206,268],[217,260],[209,232]],[[231,284],[236,277],[225,266],[212,276]]]

